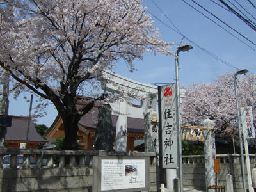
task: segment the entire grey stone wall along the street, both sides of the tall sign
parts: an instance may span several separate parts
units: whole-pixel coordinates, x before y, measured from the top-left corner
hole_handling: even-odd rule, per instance
[[[99,156],[100,152],[90,151],[44,151],[47,159],[46,166],[41,167],[39,159],[42,150],[0,149],[0,191],[57,191],[57,192],[92,192],[93,169],[92,157]],[[4,154],[11,154],[10,169],[3,169]],[[17,169],[13,159],[18,154],[24,155],[23,168]],[[29,156],[36,156],[36,167],[30,168]],[[159,168],[156,166],[154,152],[109,153],[118,156],[149,156],[150,157],[150,190],[159,191]],[[57,167],[53,159],[58,157]],[[226,175],[233,176],[234,192],[243,192],[243,180],[239,154],[217,155],[221,159],[221,172],[218,173],[218,183],[226,186]],[[68,160],[68,165],[65,161]],[[255,154],[250,154],[251,168],[255,161]],[[179,172],[177,177],[179,177]],[[204,156],[183,156],[183,184],[184,188],[205,191],[205,165]],[[246,177],[247,179],[247,177]],[[226,189],[226,191],[229,191]],[[146,192],[146,191],[143,191]]]

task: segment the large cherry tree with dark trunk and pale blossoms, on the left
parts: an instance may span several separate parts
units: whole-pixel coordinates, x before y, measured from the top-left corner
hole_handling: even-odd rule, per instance
[[[76,148],[77,122],[104,99],[103,69],[124,60],[132,71],[144,52],[172,54],[141,0],[5,0],[0,14],[1,74],[10,74],[15,96],[30,90],[54,104],[65,149]],[[96,99],[77,108],[77,95]]]

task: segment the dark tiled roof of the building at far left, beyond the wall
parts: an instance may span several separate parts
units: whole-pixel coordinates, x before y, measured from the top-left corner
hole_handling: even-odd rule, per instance
[[[28,117],[12,116],[12,127],[7,127],[5,140],[10,141],[26,141],[28,127]],[[33,121],[30,122],[28,141],[46,142],[36,132]]]

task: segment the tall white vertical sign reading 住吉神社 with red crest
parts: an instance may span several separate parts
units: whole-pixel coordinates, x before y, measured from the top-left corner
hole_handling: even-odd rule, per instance
[[[161,164],[163,168],[177,168],[177,134],[176,134],[176,88],[175,84],[159,87],[159,122],[161,147]],[[160,127],[161,126],[161,127]]]

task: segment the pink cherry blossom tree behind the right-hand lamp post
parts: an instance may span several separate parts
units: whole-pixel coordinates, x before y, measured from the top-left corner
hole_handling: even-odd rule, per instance
[[[256,117],[256,76],[249,74],[237,77],[239,106],[252,106]],[[214,83],[198,83],[186,88],[186,97],[181,105],[182,123],[200,125],[205,118],[214,120],[217,134],[238,137],[234,74],[217,77]],[[230,129],[227,129],[230,127]]]

